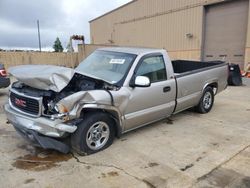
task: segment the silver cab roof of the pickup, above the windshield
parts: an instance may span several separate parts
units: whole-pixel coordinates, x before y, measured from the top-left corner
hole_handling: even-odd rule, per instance
[[[122,52],[122,53],[136,54],[136,55],[144,54],[144,53],[156,53],[156,52],[163,51],[163,49],[135,48],[135,47],[107,47],[107,48],[98,48],[97,50]]]

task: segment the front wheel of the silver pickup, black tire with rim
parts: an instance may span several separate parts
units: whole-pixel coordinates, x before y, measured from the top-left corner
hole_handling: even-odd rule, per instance
[[[99,130],[101,126],[102,133],[100,133]],[[108,134],[108,136],[106,134]],[[106,137],[102,137],[103,135],[106,135]],[[103,112],[90,112],[84,115],[83,121],[71,135],[71,146],[79,155],[89,155],[109,147],[113,143],[114,137],[115,129],[113,119]],[[97,144],[98,140],[101,143],[99,147]]]

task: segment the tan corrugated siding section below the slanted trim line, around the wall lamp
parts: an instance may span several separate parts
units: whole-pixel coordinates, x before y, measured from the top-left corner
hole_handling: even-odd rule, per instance
[[[160,47],[169,51],[200,49],[203,8],[115,25],[115,44]],[[187,33],[193,34],[188,39]]]

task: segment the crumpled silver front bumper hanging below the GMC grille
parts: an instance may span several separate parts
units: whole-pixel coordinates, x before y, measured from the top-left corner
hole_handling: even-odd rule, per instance
[[[67,133],[73,133],[76,125],[62,123],[60,120],[51,120],[45,117],[28,117],[13,110],[9,104],[4,106],[7,119],[21,136],[34,145],[45,149],[55,149],[63,153],[69,152],[69,147],[58,138]]]

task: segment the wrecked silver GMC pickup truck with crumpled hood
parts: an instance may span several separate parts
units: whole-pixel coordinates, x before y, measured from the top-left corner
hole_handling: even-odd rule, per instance
[[[24,65],[9,72],[18,81],[5,111],[17,132],[35,146],[84,155],[185,109],[209,112],[227,87],[228,65],[117,47],[96,50],[76,69]]]

